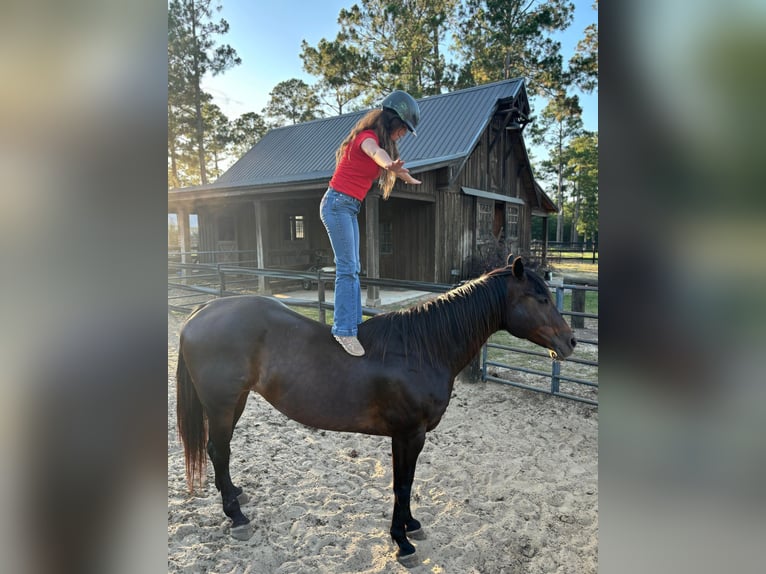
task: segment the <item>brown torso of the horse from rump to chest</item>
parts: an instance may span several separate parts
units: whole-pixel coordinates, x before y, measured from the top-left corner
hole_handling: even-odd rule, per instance
[[[182,330],[181,351],[207,406],[253,390],[316,428],[389,436],[402,426],[432,428],[449,402],[450,385],[438,384],[448,370],[393,352],[350,357],[328,325],[265,297],[199,308]]]

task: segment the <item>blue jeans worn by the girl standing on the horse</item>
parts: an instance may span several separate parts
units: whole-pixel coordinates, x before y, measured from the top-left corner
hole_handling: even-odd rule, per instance
[[[335,311],[333,335],[356,337],[362,322],[362,289],[359,272],[359,209],[356,198],[327,188],[319,204],[319,217],[330,236],[335,254]]]

